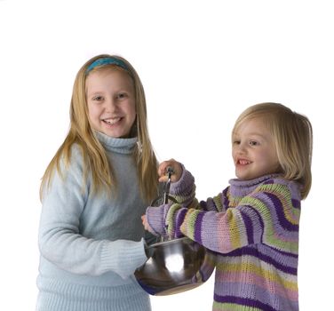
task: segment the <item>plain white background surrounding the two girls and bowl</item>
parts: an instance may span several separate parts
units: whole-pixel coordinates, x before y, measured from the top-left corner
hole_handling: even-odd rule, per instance
[[[200,199],[234,177],[230,131],[244,108],[276,101],[309,116],[314,183],[302,205],[299,303],[329,310],[332,29],[322,0],[0,1],[0,309],[35,308],[40,179],[68,131],[77,70],[107,52],[139,72],[159,160],[185,163]],[[153,297],[153,310],[209,311],[212,281]]]

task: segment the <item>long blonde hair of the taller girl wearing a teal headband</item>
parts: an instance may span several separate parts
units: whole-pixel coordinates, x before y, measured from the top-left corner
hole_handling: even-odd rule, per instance
[[[120,60],[126,65],[126,69],[113,64],[105,64],[93,68],[87,73],[87,68],[95,60],[101,58]],[[44,187],[50,186],[55,170],[58,170],[60,175],[63,176],[60,170],[60,161],[64,159],[66,165],[70,163],[71,148],[75,143],[80,147],[83,156],[83,185],[87,180],[88,174],[91,173],[93,192],[99,192],[106,188],[115,189],[117,184],[115,174],[112,167],[109,166],[105,149],[91,129],[85,93],[86,77],[93,71],[106,68],[123,70],[123,72],[131,76],[135,90],[137,114],[131,134],[138,137],[138,148],[134,153],[134,158],[137,163],[139,187],[144,199],[151,201],[155,198],[157,194],[157,161],[147,130],[147,106],[144,89],[136,70],[127,60],[120,56],[107,54],[101,54],[88,60],[76,75],[70,104],[70,128],[67,137],[44,172],[40,187],[41,198],[43,197]]]

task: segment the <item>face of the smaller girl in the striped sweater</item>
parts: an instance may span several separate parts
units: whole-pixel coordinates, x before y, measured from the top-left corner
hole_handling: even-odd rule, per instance
[[[238,179],[256,179],[280,171],[274,139],[261,118],[243,121],[232,134],[232,144]]]

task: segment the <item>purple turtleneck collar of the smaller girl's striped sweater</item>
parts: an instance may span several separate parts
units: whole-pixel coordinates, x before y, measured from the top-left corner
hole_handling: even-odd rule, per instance
[[[268,179],[274,179],[281,177],[280,174],[269,174],[258,177],[257,179],[242,180],[242,179],[230,179],[231,195],[233,196],[244,196],[249,195],[259,184],[266,182]]]

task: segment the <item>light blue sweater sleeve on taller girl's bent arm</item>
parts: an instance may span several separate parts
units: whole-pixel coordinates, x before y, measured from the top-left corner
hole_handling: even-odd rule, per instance
[[[131,275],[147,259],[143,241],[108,241],[83,236],[80,217],[90,185],[83,186],[79,161],[66,168],[62,164],[61,168],[62,176],[56,171],[50,187],[44,189],[38,236],[41,255],[75,274],[101,275],[113,270],[123,277]]]

